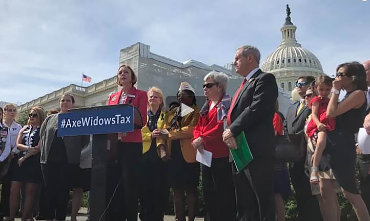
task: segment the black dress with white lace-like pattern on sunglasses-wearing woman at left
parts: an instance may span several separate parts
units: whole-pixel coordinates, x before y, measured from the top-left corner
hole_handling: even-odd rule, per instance
[[[22,144],[26,146],[36,146],[40,139],[40,127],[36,127],[32,130],[32,126],[28,126],[22,135]],[[22,151],[18,154],[18,159],[26,155],[26,151]],[[40,153],[32,155],[23,161],[21,166],[18,164],[14,165],[12,173],[12,181],[18,181],[23,183],[41,183],[43,181],[43,175],[40,166]]]

